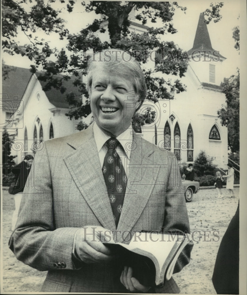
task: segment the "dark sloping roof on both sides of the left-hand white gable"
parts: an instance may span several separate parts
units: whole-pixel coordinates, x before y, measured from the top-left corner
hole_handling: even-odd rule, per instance
[[[33,74],[31,73],[30,69],[13,66],[6,67],[8,69],[8,76],[5,80],[2,78],[2,93],[8,94],[9,101],[13,103],[14,110],[16,110],[18,101],[22,100],[24,92]],[[39,72],[36,73],[36,76],[38,75]],[[60,77],[62,77],[62,75],[60,75]],[[73,80],[74,79],[71,78],[70,80],[63,82],[63,86],[66,88],[66,91],[63,94],[59,89],[55,89],[53,87],[51,90],[45,91],[45,94],[51,104],[58,108],[69,108],[70,106],[66,101],[66,94],[72,91],[79,96],[79,99],[81,99],[82,96],[78,91],[78,87],[73,85]],[[46,82],[39,82],[42,87],[45,86]]]

